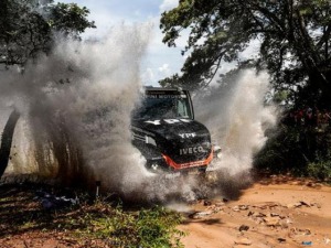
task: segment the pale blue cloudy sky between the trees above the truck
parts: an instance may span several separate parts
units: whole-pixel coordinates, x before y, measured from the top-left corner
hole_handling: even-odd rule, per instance
[[[61,0],[75,2],[89,9],[88,20],[95,21],[97,29],[86,30],[84,37],[100,37],[111,26],[126,23],[152,23],[151,41],[141,65],[141,79],[145,85],[158,86],[158,82],[174,73],[180,73],[184,63],[181,55],[184,40],[177,42],[177,47],[162,43],[159,29],[161,13],[178,6],[179,0]]]

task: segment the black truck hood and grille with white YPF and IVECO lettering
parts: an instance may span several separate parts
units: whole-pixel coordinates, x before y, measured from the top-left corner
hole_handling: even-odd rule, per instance
[[[158,151],[177,164],[181,164],[181,169],[191,166],[190,164],[194,161],[206,160],[212,152],[209,130],[195,120],[136,119],[131,121],[131,126],[134,137],[152,138]]]

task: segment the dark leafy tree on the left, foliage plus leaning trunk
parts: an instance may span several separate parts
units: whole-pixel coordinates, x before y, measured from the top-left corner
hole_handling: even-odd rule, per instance
[[[95,28],[87,20],[89,11],[76,3],[57,3],[53,0],[0,1],[0,66],[21,66],[49,53],[58,33],[79,39],[87,28]],[[9,161],[13,131],[20,114],[14,109],[2,132],[0,147],[0,177]],[[64,142],[68,142],[67,139]],[[66,144],[63,144],[65,147]]]

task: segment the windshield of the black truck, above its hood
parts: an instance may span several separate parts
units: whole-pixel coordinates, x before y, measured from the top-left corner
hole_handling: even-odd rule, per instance
[[[186,95],[147,94],[134,119],[193,119],[191,105]]]

